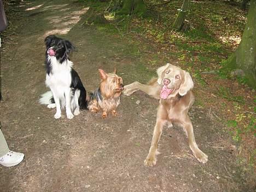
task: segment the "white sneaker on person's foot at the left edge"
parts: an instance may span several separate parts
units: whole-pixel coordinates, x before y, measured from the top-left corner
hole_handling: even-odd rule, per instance
[[[18,165],[24,158],[23,153],[12,152],[9,150],[7,154],[0,157],[0,165],[5,167],[11,167],[14,165]]]

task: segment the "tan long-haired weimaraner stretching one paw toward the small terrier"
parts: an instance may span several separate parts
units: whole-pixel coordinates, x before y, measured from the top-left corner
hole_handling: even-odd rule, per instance
[[[203,164],[206,163],[208,156],[197,147],[193,125],[188,115],[188,110],[195,101],[195,97],[191,91],[194,87],[194,83],[190,74],[170,63],[158,68],[157,73],[158,78],[150,80],[147,85],[133,82],[124,87],[125,95],[129,96],[133,92],[141,90],[146,92],[149,96],[160,100],[152,143],[144,164],[146,166],[156,164],[156,154],[162,127],[165,124],[171,127],[172,123],[183,126],[188,136],[189,147],[195,158]]]

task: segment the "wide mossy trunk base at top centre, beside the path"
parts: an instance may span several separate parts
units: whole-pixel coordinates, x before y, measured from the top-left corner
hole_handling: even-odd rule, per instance
[[[120,0],[116,0],[116,2],[120,2]],[[131,14],[135,13],[140,16],[143,16],[147,11],[146,5],[144,4],[144,0],[124,0],[123,5],[119,11],[119,14]]]

